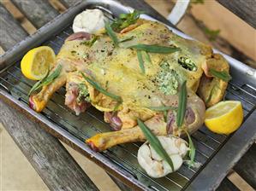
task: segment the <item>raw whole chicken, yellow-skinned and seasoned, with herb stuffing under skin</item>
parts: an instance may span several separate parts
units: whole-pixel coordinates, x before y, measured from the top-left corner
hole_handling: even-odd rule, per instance
[[[96,107],[104,112],[104,120],[115,130],[86,140],[94,150],[102,151],[124,142],[146,141],[137,119],[144,121],[157,136],[181,136],[182,131],[176,125],[176,107],[181,82],[187,80],[188,101],[182,129],[189,133],[197,130],[204,123],[205,106],[223,99],[227,82],[209,72],[210,69],[229,72],[223,56],[212,53],[211,47],[204,43],[177,36],[155,21],[137,20],[115,33],[117,46],[104,30],[97,36],[77,32],[68,37],[52,69],[62,65],[62,72],[38,94],[30,96],[30,107],[41,112],[53,93],[66,85],[67,107],[77,115],[89,106]],[[178,51],[163,54],[141,51],[144,60],[141,72],[138,51],[133,49],[136,44],[157,44]],[[113,99],[113,95],[118,99]],[[167,113],[152,109],[163,106],[174,109]]]

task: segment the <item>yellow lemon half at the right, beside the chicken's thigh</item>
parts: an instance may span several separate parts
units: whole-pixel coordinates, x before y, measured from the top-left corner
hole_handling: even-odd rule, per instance
[[[240,101],[220,101],[205,112],[205,125],[218,134],[230,134],[237,130],[243,119]]]

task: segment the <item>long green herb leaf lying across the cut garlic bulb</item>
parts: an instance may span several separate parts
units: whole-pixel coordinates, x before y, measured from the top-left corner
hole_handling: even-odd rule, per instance
[[[137,122],[139,124],[140,130],[142,130],[144,136],[146,136],[146,140],[151,144],[152,148],[154,148],[158,155],[170,165],[171,170],[175,171],[173,162],[170,159],[168,153],[166,153],[165,149],[161,145],[161,142],[159,142],[158,137],[155,136],[152,131],[146,126],[146,124],[144,124],[140,119],[137,119]]]

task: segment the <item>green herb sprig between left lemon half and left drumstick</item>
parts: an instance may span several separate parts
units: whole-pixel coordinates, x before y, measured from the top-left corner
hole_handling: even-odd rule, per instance
[[[58,65],[56,70],[51,72],[50,75],[48,70],[45,77],[33,85],[32,89],[28,93],[28,96],[30,96],[34,91],[39,90],[39,88],[41,88],[42,86],[51,84],[51,82],[60,75],[61,71],[62,71],[62,65]]]

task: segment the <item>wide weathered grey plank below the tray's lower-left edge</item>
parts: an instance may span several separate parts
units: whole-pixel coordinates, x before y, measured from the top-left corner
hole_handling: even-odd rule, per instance
[[[63,145],[0,101],[0,122],[51,190],[98,190]]]

